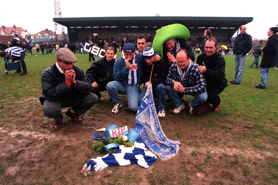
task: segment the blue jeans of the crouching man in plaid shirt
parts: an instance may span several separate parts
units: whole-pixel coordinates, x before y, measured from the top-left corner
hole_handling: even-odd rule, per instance
[[[173,101],[173,104],[176,107],[180,107],[183,104],[181,98],[183,97],[184,93],[175,91],[174,86],[167,85],[166,88],[167,88],[168,96],[170,96],[171,100]],[[200,94],[193,94],[191,96],[194,97],[193,100],[191,101],[192,108],[205,102],[206,99],[208,98],[206,91]]]

